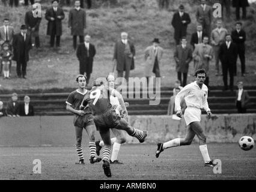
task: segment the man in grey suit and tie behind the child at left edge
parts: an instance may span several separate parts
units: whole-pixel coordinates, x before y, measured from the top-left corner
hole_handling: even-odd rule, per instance
[[[9,19],[4,19],[4,25],[0,26],[0,46],[6,41],[10,44],[13,43],[14,28],[9,25]],[[11,47],[10,47],[11,48]],[[9,65],[9,71],[11,71],[11,63]],[[2,61],[0,61],[0,76],[2,74]]]

